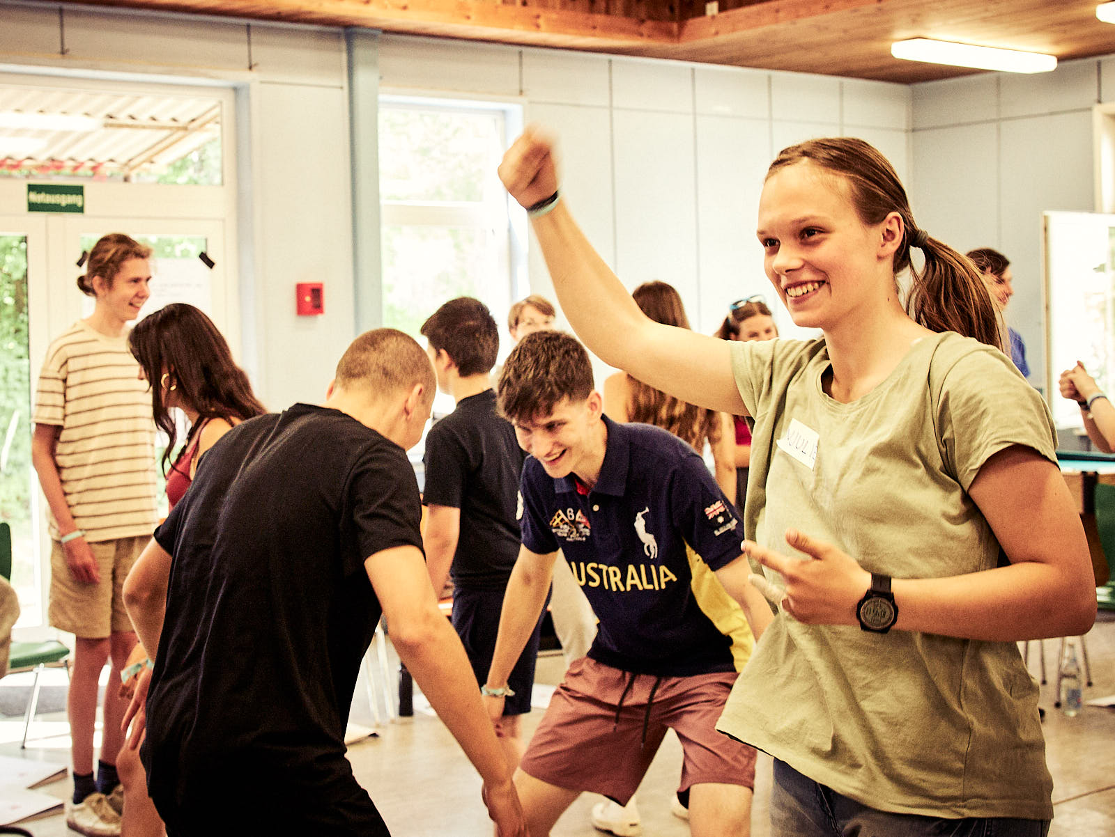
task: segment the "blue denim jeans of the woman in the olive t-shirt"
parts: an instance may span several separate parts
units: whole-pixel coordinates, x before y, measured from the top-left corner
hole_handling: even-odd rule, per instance
[[[1049,821],[1008,817],[946,819],[869,808],[775,759],[773,837],[1046,837]]]

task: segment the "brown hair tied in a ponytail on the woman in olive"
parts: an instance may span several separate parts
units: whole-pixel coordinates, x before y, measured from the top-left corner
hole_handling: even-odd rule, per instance
[[[892,212],[902,217],[903,240],[894,253],[893,270],[895,276],[910,271],[906,313],[914,322],[931,331],[956,331],[1002,350],[999,314],[979,273],[968,259],[918,228],[905,189],[879,150],[855,137],[811,139],[784,148],[767,177],[806,160],[844,177],[863,223],[880,224]],[[925,257],[921,271],[910,261],[911,247],[921,249]]]

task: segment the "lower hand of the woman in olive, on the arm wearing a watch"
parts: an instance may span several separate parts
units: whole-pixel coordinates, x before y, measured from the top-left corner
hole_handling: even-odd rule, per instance
[[[786,531],[786,544],[808,558],[802,561],[746,541],[744,552],[782,575],[786,586],[750,576],[768,601],[809,625],[856,625],[856,605],[871,586],[871,573],[847,553],[796,529]]]

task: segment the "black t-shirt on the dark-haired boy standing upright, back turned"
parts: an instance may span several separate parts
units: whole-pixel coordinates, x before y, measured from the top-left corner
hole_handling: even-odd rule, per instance
[[[423,503],[460,509],[449,574],[455,586],[504,590],[518,557],[518,478],[526,454],[495,408],[495,392],[460,399],[426,435]]]

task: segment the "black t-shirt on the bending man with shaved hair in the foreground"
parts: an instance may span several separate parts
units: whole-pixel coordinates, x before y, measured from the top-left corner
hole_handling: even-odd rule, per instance
[[[213,446],[155,532],[173,556],[143,752],[159,807],[237,769],[352,792],[345,727],[380,616],[363,562],[420,548],[420,517],[404,450],[337,410],[295,405]]]

